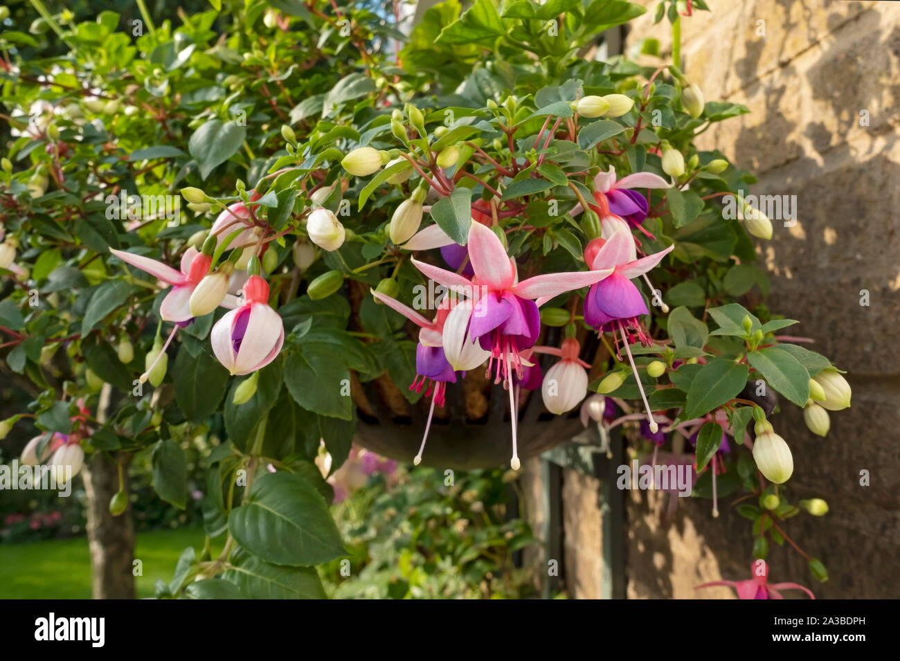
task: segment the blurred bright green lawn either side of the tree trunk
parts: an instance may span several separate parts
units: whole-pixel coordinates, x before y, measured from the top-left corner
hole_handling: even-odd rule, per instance
[[[143,562],[135,576],[138,598],[152,597],[157,578],[172,579],[185,547],[199,553],[200,528],[139,532],[134,557]],[[0,599],[90,599],[91,559],[87,539],[0,544]]]

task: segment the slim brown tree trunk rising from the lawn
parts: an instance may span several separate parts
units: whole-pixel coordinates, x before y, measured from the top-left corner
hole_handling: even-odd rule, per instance
[[[128,491],[131,455],[121,453],[122,477]],[[134,599],[134,523],[131,504],[119,516],[109,511],[110,498],[119,490],[119,469],[103,452],[85,466],[87,540],[91,549],[91,585],[94,599]]]

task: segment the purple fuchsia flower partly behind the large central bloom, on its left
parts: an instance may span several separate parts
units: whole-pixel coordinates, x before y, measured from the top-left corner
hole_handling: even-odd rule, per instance
[[[471,283],[469,287],[471,289]],[[470,308],[471,310],[472,304],[469,301],[457,303],[455,297],[446,296],[437,307],[434,320],[428,321],[428,318],[423,317],[416,310],[380,291],[372,290],[372,295],[384,305],[410,319],[420,329],[419,345],[416,347],[416,378],[412,381],[410,390],[421,392],[428,384],[425,397],[430,396],[432,392],[434,397],[431,397],[428,422],[425,424],[425,434],[422,436],[419,454],[412,460],[418,466],[422,460],[422,452],[425,451],[425,442],[428,440],[428,430],[431,428],[431,418],[435,413],[435,406],[444,406],[446,384],[456,382],[457,371],[465,373],[482,365],[488,359],[489,353],[476,344],[461,342],[454,345],[452,349],[444,344],[446,322],[453,316],[453,310],[456,308]],[[458,315],[454,318],[458,318]]]

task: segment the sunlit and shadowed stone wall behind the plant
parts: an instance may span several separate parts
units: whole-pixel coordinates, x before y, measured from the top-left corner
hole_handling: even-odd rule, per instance
[[[649,12],[626,41],[657,37],[669,57],[669,22]],[[850,410],[832,415],[825,439],[796,408],[774,421],[794,452],[795,499],[821,496],[831,513],[797,516],[788,534],[821,558],[831,579],[816,583],[787,545],[770,550],[770,577],[812,587],[820,598],[896,598],[900,590],[900,3],[827,0],[707,0],[711,13],[682,18],[682,65],[709,100],[751,113],[716,125],[700,148],[719,148],[759,176],[757,194],[797,196],[794,227],[775,223],[757,242],[772,278],[770,308],[799,319],[853,388]],[[860,125],[860,112],[869,125]],[[861,290],[869,306],[860,305]],[[795,330],[797,329],[797,330]],[[860,486],[860,470],[870,473]],[[584,490],[590,493],[581,494]],[[596,485],[563,474],[565,573],[570,594],[590,596],[597,572]],[[693,585],[750,576],[750,522],[725,506],[682,500],[670,525],[662,498],[626,496],[629,598],[690,598]],[[571,509],[570,509],[571,508]],[[593,538],[598,539],[598,538]],[[599,544],[599,541],[596,542]],[[581,590],[581,594],[580,594]],[[704,596],[729,597],[730,590]]]

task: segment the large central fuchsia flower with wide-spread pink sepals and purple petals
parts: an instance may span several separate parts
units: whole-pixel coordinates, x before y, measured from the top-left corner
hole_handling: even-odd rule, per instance
[[[415,238],[415,237],[414,237]],[[509,259],[500,238],[490,228],[473,222],[469,228],[469,259],[473,267],[470,281],[459,273],[446,271],[431,264],[412,260],[419,271],[428,278],[444,285],[449,290],[472,295],[473,285],[479,296],[471,308],[460,306],[457,319],[467,323],[447,324],[444,329],[444,346],[464,346],[466,343],[481,344],[482,349],[491,352],[488,373],[495,368],[495,383],[504,384],[509,389],[509,406],[512,422],[513,455],[510,465],[520,466],[517,449],[517,412],[514,392],[510,381],[515,374],[521,379],[523,374],[523,352],[534,346],[540,333],[541,319],[535,299],[551,299],[564,291],[587,287],[606,278],[612,269],[590,272],[545,273],[518,281],[516,264]],[[452,316],[452,315],[451,315]]]

